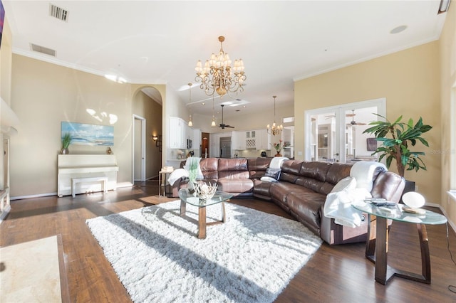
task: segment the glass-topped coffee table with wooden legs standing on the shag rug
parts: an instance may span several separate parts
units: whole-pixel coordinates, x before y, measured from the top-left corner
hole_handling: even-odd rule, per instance
[[[198,207],[198,235],[199,239],[206,238],[206,226],[207,225],[215,225],[224,223],[227,220],[227,216],[225,213],[225,205],[224,202],[232,198],[233,195],[231,193],[225,193],[224,191],[216,191],[214,196],[207,200],[202,200],[198,197],[193,196],[192,193],[188,191],[187,188],[182,188],[179,191],[179,198],[180,198],[180,216],[186,217],[186,206],[189,203],[192,206]],[[222,220],[214,221],[214,222],[206,222],[206,206],[212,206],[215,204],[220,204],[222,206]],[[188,218],[188,217],[187,217]]]

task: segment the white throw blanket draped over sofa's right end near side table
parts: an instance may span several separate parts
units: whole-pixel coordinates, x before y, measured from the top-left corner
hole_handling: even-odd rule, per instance
[[[360,226],[363,215],[351,204],[372,197],[373,176],[378,170],[386,170],[385,165],[373,161],[360,161],[353,164],[350,176],[354,180],[341,188],[340,184],[348,183],[348,177],[342,179],[339,181],[340,184],[334,186],[338,191],[328,193],[323,208],[324,216],[334,218],[336,224],[352,228]]]

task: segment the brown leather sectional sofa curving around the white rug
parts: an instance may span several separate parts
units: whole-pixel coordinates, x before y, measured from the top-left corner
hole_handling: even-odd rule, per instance
[[[278,182],[261,181],[270,162],[271,158],[206,158],[201,159],[199,166],[204,180],[217,182],[219,191],[239,198],[253,196],[272,201],[329,244],[366,240],[367,220],[357,228],[350,228],[323,216],[326,195],[338,181],[350,176],[353,164],[285,160]],[[185,186],[185,180],[176,181],[173,196],[177,197],[177,191]],[[371,193],[374,198],[398,202],[404,186],[405,181],[398,174],[378,169],[373,176]]]

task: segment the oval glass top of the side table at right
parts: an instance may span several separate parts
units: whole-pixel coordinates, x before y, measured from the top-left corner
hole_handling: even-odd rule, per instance
[[[424,214],[408,213],[403,211],[405,205],[399,203],[392,207],[386,207],[375,206],[372,203],[360,201],[353,203],[352,206],[358,211],[396,221],[430,225],[444,224],[447,222],[445,216],[440,215],[440,213],[434,213],[433,211],[426,211]]]

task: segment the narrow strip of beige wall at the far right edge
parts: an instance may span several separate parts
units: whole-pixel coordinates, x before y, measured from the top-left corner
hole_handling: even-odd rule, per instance
[[[456,189],[456,180],[450,184],[450,175],[456,178],[456,6],[450,6],[445,18],[445,26],[440,35],[440,95],[441,95],[441,112],[442,120],[441,136],[442,146],[440,147],[439,156],[441,156],[442,178],[441,178],[441,196],[442,206],[447,213],[448,218],[456,223],[456,203],[451,201],[447,196],[447,191]],[[451,90],[453,91],[453,100],[451,99]],[[453,127],[453,132],[450,132]]]

